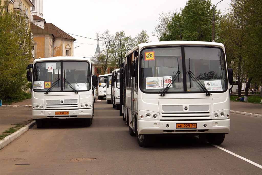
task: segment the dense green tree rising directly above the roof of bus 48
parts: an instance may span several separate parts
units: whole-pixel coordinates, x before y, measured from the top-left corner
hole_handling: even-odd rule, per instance
[[[208,2],[211,3],[209,0]],[[215,36],[220,27],[219,14],[220,11],[215,10]],[[211,41],[212,17],[213,10],[208,3],[188,0],[181,13],[174,13],[172,20],[167,24],[167,32],[164,32],[159,40]]]

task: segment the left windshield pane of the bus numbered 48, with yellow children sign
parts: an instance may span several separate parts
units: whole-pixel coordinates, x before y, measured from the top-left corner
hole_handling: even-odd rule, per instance
[[[140,53],[140,88],[159,92],[171,83],[168,92],[183,91],[181,47],[145,49]],[[181,73],[173,80],[177,72]]]

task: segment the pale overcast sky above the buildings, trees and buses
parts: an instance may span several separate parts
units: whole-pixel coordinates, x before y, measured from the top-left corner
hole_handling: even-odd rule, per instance
[[[211,0],[217,4],[221,0]],[[158,41],[152,36],[157,17],[162,12],[184,8],[187,0],[44,0],[43,18],[76,39],[74,56],[94,56],[97,41],[96,33],[107,29],[110,34],[123,30],[126,36],[134,38],[142,30],[146,30],[150,41]],[[227,12],[231,0],[223,0],[217,5],[221,13]],[[79,36],[75,36],[79,35]],[[83,38],[84,36],[87,38]],[[92,39],[88,39],[92,38]],[[82,43],[82,44],[80,44]],[[103,43],[99,43],[100,49]]]

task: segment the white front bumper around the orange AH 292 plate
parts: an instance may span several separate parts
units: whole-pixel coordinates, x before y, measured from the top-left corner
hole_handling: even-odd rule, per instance
[[[55,115],[55,112],[68,112],[68,115]],[[32,110],[32,119],[49,118],[92,118],[93,109],[73,109],[73,110]]]

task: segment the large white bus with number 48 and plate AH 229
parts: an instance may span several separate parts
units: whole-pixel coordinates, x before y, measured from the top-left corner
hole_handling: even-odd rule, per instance
[[[223,44],[143,43],[125,55],[124,64],[121,105],[139,146],[150,146],[154,134],[198,135],[211,144],[224,141],[230,132],[228,83],[233,70],[227,69]]]

